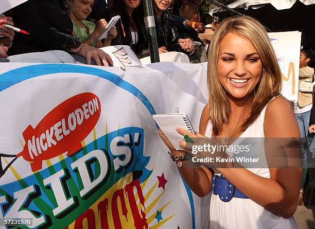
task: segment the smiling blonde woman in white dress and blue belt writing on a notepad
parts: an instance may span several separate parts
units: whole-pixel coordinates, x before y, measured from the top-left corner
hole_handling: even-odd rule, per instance
[[[280,94],[281,71],[264,26],[248,16],[226,19],[213,35],[208,58],[209,100],[200,118],[200,133],[177,128],[180,134],[194,143],[202,139],[223,146],[235,146],[242,140],[239,137],[261,138],[266,157],[276,152],[272,145],[265,146],[266,140],[300,137],[292,107]],[[211,228],[298,228],[293,214],[299,199],[301,158],[296,157],[298,166],[294,168],[268,167],[272,161],[260,168],[235,168],[236,163],[230,162],[225,167],[214,162],[202,163],[211,168],[196,168],[186,160],[191,144],[182,140],[179,146],[183,150],[176,150],[161,130],[159,133],[172,158],[182,160],[177,165],[190,189],[199,197],[213,192]],[[250,149],[249,154],[258,150]],[[301,156],[300,149],[294,152]],[[199,151],[194,155],[205,158],[210,154]]]

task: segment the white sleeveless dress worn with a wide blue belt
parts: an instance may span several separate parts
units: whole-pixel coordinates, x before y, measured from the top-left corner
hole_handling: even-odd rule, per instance
[[[265,137],[264,118],[267,106],[261,112],[259,117],[250,125],[240,136],[246,137]],[[212,125],[209,123],[205,136],[212,136]],[[236,141],[237,142],[237,141]],[[234,143],[235,144],[235,143]],[[254,156],[255,157],[255,156]],[[264,167],[264,166],[262,166]],[[270,178],[268,168],[248,169],[253,173],[264,178]],[[220,174],[218,174],[220,175]],[[291,229],[296,228],[293,217],[285,219],[269,212],[264,207],[258,205],[251,199],[232,198],[230,202],[223,202],[219,195],[213,195],[210,202],[210,228],[211,229],[254,229],[254,228],[272,228],[272,229]]]

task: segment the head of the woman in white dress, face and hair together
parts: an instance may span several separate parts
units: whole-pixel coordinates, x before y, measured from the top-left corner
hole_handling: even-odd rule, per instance
[[[261,30],[254,28],[254,22],[239,20],[234,23],[224,23],[213,37],[212,43],[216,45],[209,49],[209,56],[212,58],[209,58],[208,62],[210,66],[215,67],[208,68],[207,81],[211,108],[209,117],[215,136],[222,131],[223,124],[228,123],[230,117],[233,119],[231,102],[237,103],[236,107],[239,107],[241,103],[244,105],[249,101],[251,102],[249,107],[255,108],[249,114],[249,118],[244,119],[242,125],[244,130],[260,115],[273,97],[280,95],[281,71],[276,56],[266,30],[259,23]],[[230,73],[224,73],[225,71]],[[225,84],[222,83],[222,74],[229,74],[226,76]],[[239,80],[248,78],[248,82],[243,87],[241,84],[232,84],[229,78]],[[243,97],[239,97],[241,94]]]

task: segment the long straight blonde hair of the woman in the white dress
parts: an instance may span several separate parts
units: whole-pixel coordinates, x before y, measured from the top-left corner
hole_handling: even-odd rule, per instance
[[[243,122],[241,128],[246,130],[259,116],[268,102],[281,92],[281,71],[264,26],[249,16],[233,17],[224,20],[213,34],[208,55],[208,108],[209,121],[212,122],[214,136],[222,132],[223,124],[229,122],[231,115],[229,98],[220,83],[217,69],[220,43],[229,32],[240,34],[249,39],[257,49],[263,63],[261,78],[247,104],[250,108],[250,116]]]

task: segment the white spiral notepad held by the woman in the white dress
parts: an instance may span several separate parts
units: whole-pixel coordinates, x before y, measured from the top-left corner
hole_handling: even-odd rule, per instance
[[[156,114],[152,115],[152,117],[177,150],[181,150],[179,142],[183,139],[183,136],[176,131],[177,127],[195,133],[193,125],[191,125],[191,122],[185,113]]]

